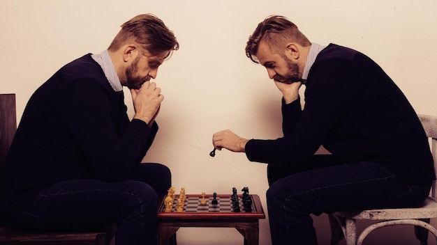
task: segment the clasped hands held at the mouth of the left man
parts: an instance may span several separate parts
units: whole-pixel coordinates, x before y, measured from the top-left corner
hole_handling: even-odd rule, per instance
[[[131,95],[135,109],[133,118],[143,120],[151,127],[164,100],[161,88],[156,87],[154,82],[146,81],[139,90],[131,89]]]

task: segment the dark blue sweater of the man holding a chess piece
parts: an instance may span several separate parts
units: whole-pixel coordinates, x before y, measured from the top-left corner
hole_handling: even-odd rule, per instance
[[[369,57],[328,45],[306,81],[305,105],[282,104],[283,134],[246,144],[250,161],[293,164],[323,145],[345,163],[385,164],[406,183],[434,180],[424,129],[401,90]]]

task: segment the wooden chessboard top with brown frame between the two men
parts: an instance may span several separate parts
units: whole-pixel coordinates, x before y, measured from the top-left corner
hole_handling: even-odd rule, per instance
[[[161,203],[159,207],[158,212],[158,218],[159,219],[165,219],[165,218],[175,218],[175,217],[181,217],[184,219],[184,217],[189,216],[195,216],[197,218],[204,218],[207,217],[226,217],[226,216],[242,216],[242,217],[253,217],[256,219],[264,219],[265,214],[262,210],[262,206],[260,203],[260,198],[258,195],[249,195],[249,198],[251,198],[252,204],[251,204],[251,210],[250,212],[246,212],[246,210],[243,208],[244,205],[242,204],[242,195],[238,195],[239,199],[239,206],[242,207],[240,212],[234,212],[232,208],[232,200],[230,195],[216,195],[217,204],[212,204],[212,200],[214,197],[212,195],[206,195],[205,200],[207,201],[207,205],[200,205],[200,200],[202,200],[202,195],[186,195],[186,200],[184,203],[184,210],[182,212],[176,211],[176,205],[177,205],[177,199],[179,198],[179,195],[175,197],[175,200],[173,200],[172,210],[170,212],[164,212],[165,205],[164,202]]]

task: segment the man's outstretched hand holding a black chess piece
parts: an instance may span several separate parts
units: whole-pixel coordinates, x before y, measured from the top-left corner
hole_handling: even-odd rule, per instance
[[[245,152],[244,148],[246,148],[247,141],[249,140],[237,136],[237,134],[234,134],[229,129],[216,132],[212,136],[212,144],[218,150],[226,148],[232,152]]]

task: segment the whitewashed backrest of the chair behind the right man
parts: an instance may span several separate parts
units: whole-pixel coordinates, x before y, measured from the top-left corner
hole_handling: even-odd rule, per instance
[[[434,171],[437,177],[437,116],[429,116],[423,114],[419,114],[418,116],[429,138],[429,145],[431,147],[431,152],[434,159]],[[436,198],[436,193],[436,181],[434,181],[432,184],[431,196],[433,198]]]

